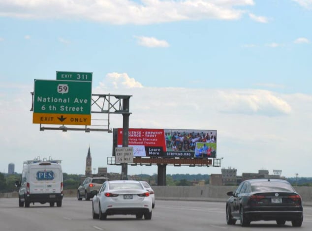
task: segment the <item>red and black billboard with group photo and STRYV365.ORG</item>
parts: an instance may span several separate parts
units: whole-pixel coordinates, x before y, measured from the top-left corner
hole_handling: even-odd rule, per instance
[[[123,146],[123,129],[113,129],[115,147]],[[129,128],[134,157],[216,158],[217,130]]]

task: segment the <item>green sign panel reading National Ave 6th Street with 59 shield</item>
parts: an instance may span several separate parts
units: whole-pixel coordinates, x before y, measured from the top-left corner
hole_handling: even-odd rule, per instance
[[[92,82],[34,80],[33,113],[91,115]]]

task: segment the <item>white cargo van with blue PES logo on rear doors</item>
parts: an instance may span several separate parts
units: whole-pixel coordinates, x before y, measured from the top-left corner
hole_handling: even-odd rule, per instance
[[[16,181],[19,187],[19,206],[29,207],[30,203],[49,202],[54,206],[62,206],[63,199],[63,173],[61,160],[40,160],[35,158],[24,162],[21,181]]]

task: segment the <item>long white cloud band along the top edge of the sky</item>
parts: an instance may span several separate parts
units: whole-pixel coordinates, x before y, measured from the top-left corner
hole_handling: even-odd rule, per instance
[[[253,0],[2,0],[0,16],[153,24],[181,20],[237,20]]]

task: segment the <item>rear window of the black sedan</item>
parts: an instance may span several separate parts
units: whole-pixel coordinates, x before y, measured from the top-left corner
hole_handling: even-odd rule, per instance
[[[294,192],[287,182],[259,181],[250,184],[252,192]]]

